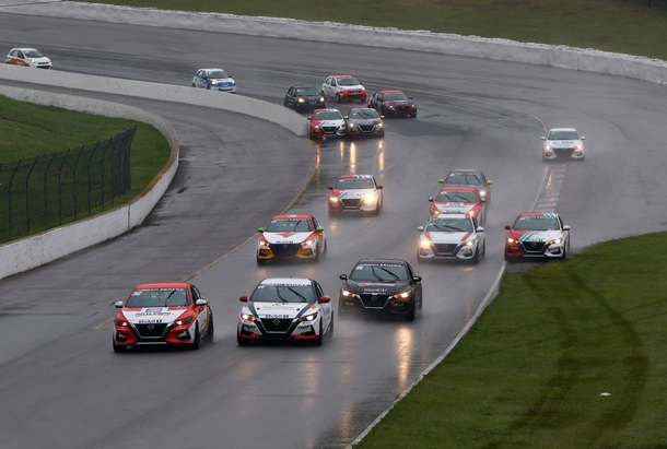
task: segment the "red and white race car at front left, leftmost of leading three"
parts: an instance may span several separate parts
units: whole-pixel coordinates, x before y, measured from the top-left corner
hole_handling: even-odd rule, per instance
[[[213,340],[211,306],[189,282],[141,284],[115,306],[120,309],[114,319],[115,352],[144,344],[198,350],[202,340]]]

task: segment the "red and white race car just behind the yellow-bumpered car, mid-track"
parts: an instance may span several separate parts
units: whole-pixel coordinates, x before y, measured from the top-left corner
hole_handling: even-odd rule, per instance
[[[354,211],[379,214],[384,203],[383,186],[371,175],[343,175],[329,190],[329,216]]]

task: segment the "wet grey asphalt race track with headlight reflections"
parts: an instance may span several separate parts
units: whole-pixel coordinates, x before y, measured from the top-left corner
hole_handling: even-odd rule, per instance
[[[241,95],[276,103],[292,84],[352,73],[370,92],[401,87],[419,106],[416,120],[386,120],[384,139],[313,144],[244,116],[81,92],[167,118],[182,142],[182,166],[143,226],[0,281],[7,448],[344,447],[447,347],[491,287],[503,261],[503,225],[540,196],[545,128],[574,126],[588,138],[587,158],[567,165],[555,208],[572,226],[574,250],[667,227],[665,86],[461,57],[1,12],[0,44],[35,46],[58,70],[174,84],[220,66],[237,79]],[[102,324],[115,315],[115,300],[140,282],[183,280],[229,253],[292,202],[313,167],[292,211],[324,223],[325,260],[258,268],[253,241],[192,279],[214,311],[212,344],[112,352],[110,326]],[[493,180],[488,257],[478,267],[417,265],[426,199],[458,167],[481,168]],[[327,216],[327,186],[343,173],[371,173],[385,186],[381,216]],[[423,316],[413,323],[337,320],[321,347],[236,345],[238,296],[261,279],[314,277],[337,303],[338,275],[365,257],[413,262],[424,277]]]

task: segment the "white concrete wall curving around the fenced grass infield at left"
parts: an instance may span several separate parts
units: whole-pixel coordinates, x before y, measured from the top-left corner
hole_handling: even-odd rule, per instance
[[[36,70],[25,71],[33,72]],[[179,151],[178,137],[172,126],[162,117],[116,103],[19,87],[0,86],[0,94],[38,105],[57,106],[105,117],[128,118],[150,123],[162,132],[172,149],[172,154],[164,168],[139,197],[128,204],[0,246],[0,260],[2,261],[0,263],[0,279],[40,267],[62,256],[117,237],[140,225],[160,201],[176,175]]]

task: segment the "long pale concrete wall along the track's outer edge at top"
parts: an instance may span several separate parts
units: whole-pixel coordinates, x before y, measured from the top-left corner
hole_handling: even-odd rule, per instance
[[[595,49],[518,43],[479,36],[379,28],[332,22],[305,22],[293,19],[161,11],[148,8],[69,1],[39,3],[38,5],[14,5],[4,8],[3,12],[326,43],[335,42],[337,44],[360,45],[360,43],[363,43],[364,46],[370,47],[399,48],[552,66],[635,78],[660,84],[667,83],[667,62],[663,60]]]

